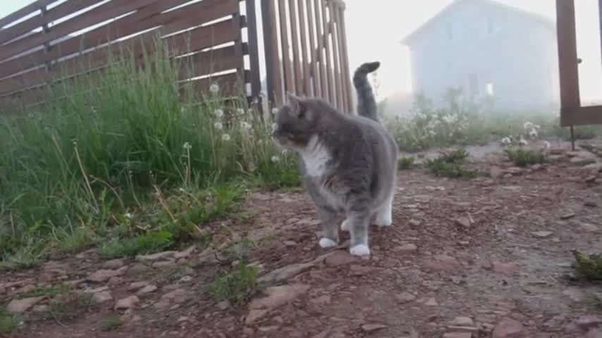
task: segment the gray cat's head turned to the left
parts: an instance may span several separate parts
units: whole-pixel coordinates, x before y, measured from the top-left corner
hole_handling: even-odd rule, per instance
[[[274,117],[271,137],[280,146],[302,151],[317,134],[327,112],[317,99],[302,99],[290,93],[287,96],[288,104],[279,108]]]

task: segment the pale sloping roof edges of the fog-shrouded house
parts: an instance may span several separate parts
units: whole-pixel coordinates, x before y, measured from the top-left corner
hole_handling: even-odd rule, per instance
[[[444,18],[446,15],[448,15],[448,13],[453,12],[455,10],[455,8],[457,8],[458,6],[469,3],[469,2],[473,2],[473,3],[480,2],[480,3],[486,4],[488,6],[491,6],[496,9],[503,10],[503,11],[512,11],[513,13],[516,13],[518,15],[524,15],[525,17],[533,20],[534,22],[540,23],[541,25],[545,25],[546,27],[550,28],[551,30],[556,29],[554,21],[549,18],[546,18],[543,15],[539,15],[539,14],[536,14],[536,13],[533,13],[530,11],[523,11],[520,8],[501,4],[498,1],[494,1],[494,0],[454,0],[451,4],[446,6],[446,8],[443,8],[441,11],[439,11],[439,13],[434,15],[434,17],[430,18],[429,20],[426,21],[426,23],[424,23],[420,27],[418,27],[417,30],[414,30],[414,32],[410,33],[410,35],[407,35],[401,41],[402,44],[405,44],[405,45],[412,44],[412,42],[414,42],[414,40],[421,37],[422,34],[426,31],[428,31],[429,28],[434,23],[436,23],[438,20],[441,20],[441,18]]]

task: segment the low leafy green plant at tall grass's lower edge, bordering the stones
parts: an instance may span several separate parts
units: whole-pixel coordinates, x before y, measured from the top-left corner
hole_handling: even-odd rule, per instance
[[[171,232],[162,230],[134,238],[113,239],[101,246],[100,256],[103,259],[135,257],[140,254],[164,251],[173,245]]]

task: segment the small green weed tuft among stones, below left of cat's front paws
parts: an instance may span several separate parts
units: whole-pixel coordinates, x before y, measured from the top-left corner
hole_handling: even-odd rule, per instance
[[[206,287],[206,290],[214,296],[216,301],[228,300],[232,306],[240,308],[257,293],[259,289],[258,275],[259,268],[240,261],[235,270],[216,277],[214,282]]]

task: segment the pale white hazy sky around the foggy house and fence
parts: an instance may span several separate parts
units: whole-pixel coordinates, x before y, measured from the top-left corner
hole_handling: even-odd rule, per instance
[[[410,91],[410,55],[400,40],[452,1],[345,0],[350,67],[355,68],[364,61],[379,60],[383,63],[379,72],[381,96]],[[498,1],[555,20],[555,0]],[[0,17],[31,2],[1,0]],[[602,99],[598,0],[579,0],[575,3],[577,46],[579,57],[584,60],[579,69],[582,97]]]

